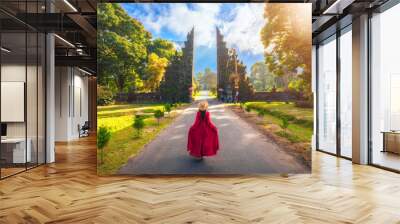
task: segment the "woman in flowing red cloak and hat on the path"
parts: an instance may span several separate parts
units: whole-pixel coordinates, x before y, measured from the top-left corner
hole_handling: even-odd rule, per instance
[[[207,101],[200,102],[196,120],[189,129],[187,150],[191,156],[199,159],[214,156],[219,149],[218,130],[211,122],[207,108]]]

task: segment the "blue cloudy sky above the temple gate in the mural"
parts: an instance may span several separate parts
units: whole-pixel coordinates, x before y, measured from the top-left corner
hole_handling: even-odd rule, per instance
[[[195,73],[209,67],[216,71],[216,34],[218,27],[228,47],[238,51],[247,65],[264,60],[260,31],[266,21],[263,3],[123,3],[130,16],[139,20],[153,38],[182,46],[187,33],[195,27]]]

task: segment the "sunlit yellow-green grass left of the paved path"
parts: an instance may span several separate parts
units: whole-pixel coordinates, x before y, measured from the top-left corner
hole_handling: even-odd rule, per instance
[[[104,163],[98,165],[97,172],[99,175],[114,174],[130,157],[137,155],[143,146],[168,127],[177,114],[172,110],[158,124],[153,113],[156,110],[162,110],[162,108],[162,104],[126,104],[98,107],[98,126],[107,127],[111,131],[111,139],[104,148]],[[136,130],[132,128],[135,114],[145,117],[145,128],[140,137],[136,137]]]

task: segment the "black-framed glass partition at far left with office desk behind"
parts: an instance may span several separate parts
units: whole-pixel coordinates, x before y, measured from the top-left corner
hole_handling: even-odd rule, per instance
[[[18,2],[18,12],[37,13],[41,3]],[[1,2],[0,7],[9,4],[15,2]],[[45,163],[46,40],[12,16],[0,17],[14,22],[0,23],[0,178],[5,178]]]

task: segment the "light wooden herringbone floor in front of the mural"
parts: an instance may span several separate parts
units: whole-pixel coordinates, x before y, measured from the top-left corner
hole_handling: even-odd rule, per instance
[[[400,223],[399,174],[323,153],[288,178],[98,177],[95,151],[0,181],[0,223]]]

